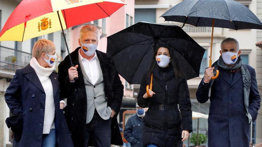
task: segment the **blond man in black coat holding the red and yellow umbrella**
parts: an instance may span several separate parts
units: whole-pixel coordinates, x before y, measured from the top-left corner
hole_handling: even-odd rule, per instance
[[[58,66],[60,97],[67,99],[64,111],[74,147],[123,144],[116,116],[124,86],[112,58],[96,50],[98,35],[95,26],[83,26],[80,47],[70,54],[75,66],[68,56]]]

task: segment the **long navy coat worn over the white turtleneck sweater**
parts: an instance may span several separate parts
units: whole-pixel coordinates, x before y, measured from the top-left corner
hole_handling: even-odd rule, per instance
[[[55,105],[56,141],[59,147],[72,147],[73,143],[66,124],[63,110],[60,109],[58,74],[52,72]],[[15,71],[15,75],[4,95],[10,111],[18,115],[23,113],[21,140],[14,140],[14,147],[40,147],[43,136],[45,92],[35,70],[27,65]]]

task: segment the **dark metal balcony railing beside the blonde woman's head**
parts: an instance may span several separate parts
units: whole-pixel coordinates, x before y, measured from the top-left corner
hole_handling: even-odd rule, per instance
[[[16,70],[29,64],[32,55],[30,53],[0,46],[0,68]]]

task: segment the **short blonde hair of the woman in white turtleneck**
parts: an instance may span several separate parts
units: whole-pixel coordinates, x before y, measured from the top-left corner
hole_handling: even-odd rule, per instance
[[[38,59],[42,53],[51,53],[55,50],[55,45],[51,40],[39,39],[35,42],[35,45],[32,50],[32,56]]]

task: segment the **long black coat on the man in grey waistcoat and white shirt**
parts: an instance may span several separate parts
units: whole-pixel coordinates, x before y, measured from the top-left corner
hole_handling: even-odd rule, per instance
[[[74,65],[79,65],[78,47],[71,55]],[[101,51],[96,50],[104,78],[105,96],[107,97],[107,106],[115,110],[116,115],[111,122],[111,144],[123,145],[122,137],[117,122],[117,114],[120,110],[124,86],[118,76],[116,67],[112,58]],[[85,81],[80,65],[77,68],[78,80],[74,83],[69,81],[68,69],[70,68],[69,57],[66,56],[58,66],[60,97],[67,98],[67,106],[64,109],[68,128],[74,143],[74,147],[84,146],[84,132],[86,124],[87,97],[85,91]],[[106,133],[106,132],[105,132]],[[92,138],[92,136],[90,136]]]

